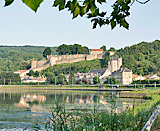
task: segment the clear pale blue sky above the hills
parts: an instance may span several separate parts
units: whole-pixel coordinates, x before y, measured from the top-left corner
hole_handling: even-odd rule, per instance
[[[108,3],[101,7],[110,11]],[[144,1],[144,0],[142,0]],[[117,26],[92,29],[90,20],[78,17],[72,20],[70,12],[52,7],[53,0],[46,0],[35,13],[21,0],[8,7],[0,1],[0,45],[59,46],[78,43],[89,48],[116,49],[146,41],[160,39],[160,1],[151,0],[145,5],[135,3],[127,18],[130,28]]]

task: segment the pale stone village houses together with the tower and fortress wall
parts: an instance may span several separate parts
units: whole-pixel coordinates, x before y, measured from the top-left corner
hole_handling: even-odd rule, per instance
[[[40,61],[34,60],[33,58],[33,60],[31,61],[31,68],[29,70],[17,70],[14,73],[19,74],[21,77],[21,81],[24,83],[45,83],[47,80],[46,77],[33,77],[27,74],[30,70],[42,71],[55,64],[103,59],[105,58],[105,53],[106,51],[103,51],[103,49],[91,49],[90,54],[48,55],[47,60]],[[108,84],[129,85],[132,83],[132,81],[135,80],[160,80],[160,77],[157,76],[157,74],[152,74],[147,77],[133,74],[131,69],[122,67],[122,57],[118,57],[117,55],[115,55],[115,53],[116,51],[109,51],[110,57],[108,60],[108,68],[90,69],[89,72],[84,73],[76,72],[74,74],[75,81],[77,83],[83,81],[85,82],[85,84],[94,84],[94,77],[98,77],[98,79],[100,79],[99,84],[103,84],[104,82],[106,82]],[[64,76],[67,82],[69,82],[69,80],[73,81],[72,79],[69,79],[71,77],[70,74],[64,74]],[[110,79],[106,79],[107,77],[115,78],[115,83],[110,83]]]

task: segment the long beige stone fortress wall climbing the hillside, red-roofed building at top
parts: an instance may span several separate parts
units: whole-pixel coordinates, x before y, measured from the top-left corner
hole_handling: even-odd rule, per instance
[[[94,53],[93,53],[94,52]],[[105,58],[105,51],[102,49],[93,49],[91,50],[90,55],[88,54],[73,54],[73,55],[49,55],[47,60],[31,61],[31,69],[33,71],[41,71],[55,64],[63,64],[63,63],[73,63],[82,60],[93,60],[93,59],[102,59]]]

